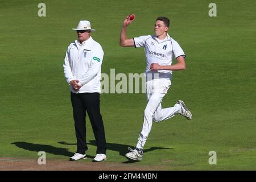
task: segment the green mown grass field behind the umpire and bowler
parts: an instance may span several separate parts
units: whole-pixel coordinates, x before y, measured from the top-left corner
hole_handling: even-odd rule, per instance
[[[256,170],[256,2],[214,1],[41,1],[0,0],[0,157],[68,160],[76,151],[72,106],[63,60],[88,19],[104,49],[102,73],[143,73],[143,49],[119,46],[123,19],[134,13],[128,36],[154,34],[158,16],[171,20],[169,34],[187,55],[187,70],[174,72],[163,107],[183,100],[193,120],[177,116],[154,123],[136,165],[166,170]],[[143,123],[145,94],[101,94],[108,162],[127,163]],[[95,155],[87,120],[88,156]],[[210,165],[209,151],[217,152]],[[85,162],[90,163],[90,160]],[[127,164],[128,165],[128,164]]]

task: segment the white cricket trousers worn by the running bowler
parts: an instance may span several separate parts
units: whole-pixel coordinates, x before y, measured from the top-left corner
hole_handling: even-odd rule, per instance
[[[152,122],[158,123],[170,119],[180,113],[181,107],[175,104],[174,107],[162,109],[161,102],[171,86],[169,78],[158,78],[146,82],[147,106],[144,110],[144,123],[139,134],[137,148],[143,148],[148,134],[151,131]]]

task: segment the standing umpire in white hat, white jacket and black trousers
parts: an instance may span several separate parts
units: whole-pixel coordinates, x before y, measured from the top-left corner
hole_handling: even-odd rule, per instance
[[[64,75],[71,91],[73,118],[77,138],[77,151],[69,160],[86,159],[86,125],[88,113],[96,139],[97,151],[93,162],[106,160],[106,138],[100,113],[101,64],[104,52],[90,36],[95,30],[88,20],[81,20],[77,28],[77,40],[67,49],[64,59]]]

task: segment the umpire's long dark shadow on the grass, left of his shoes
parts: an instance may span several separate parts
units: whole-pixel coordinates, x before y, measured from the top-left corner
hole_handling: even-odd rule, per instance
[[[69,152],[68,148],[59,148],[53,147],[47,144],[35,144],[35,143],[28,143],[28,142],[13,142],[11,144],[15,144],[16,147],[23,148],[24,150],[28,151],[45,151],[48,154],[54,155],[63,155],[68,156],[69,158],[74,155],[73,152]],[[88,158],[94,158],[94,156],[86,155]]]

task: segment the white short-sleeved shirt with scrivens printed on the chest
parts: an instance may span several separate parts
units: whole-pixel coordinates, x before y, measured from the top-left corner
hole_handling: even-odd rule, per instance
[[[179,56],[185,57],[183,49],[176,40],[172,39],[168,34],[166,39],[163,40],[156,38],[155,35],[139,36],[138,38],[134,38],[134,44],[135,47],[144,47],[146,55],[146,76],[152,73],[159,73],[159,78],[171,78],[172,71],[150,71],[150,65],[152,63],[171,65],[173,56],[176,59]]]

